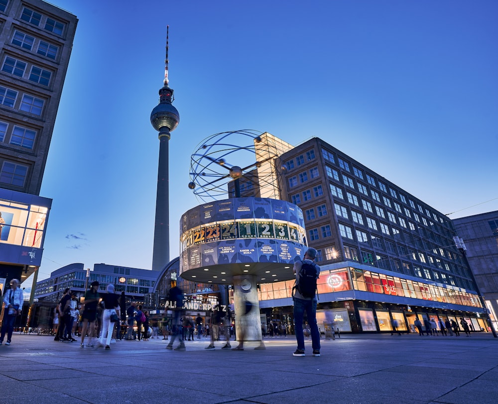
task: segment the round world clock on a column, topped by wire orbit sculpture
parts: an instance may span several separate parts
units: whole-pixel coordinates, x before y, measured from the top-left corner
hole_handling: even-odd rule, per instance
[[[302,210],[278,199],[278,156],[290,145],[274,139],[242,130],[201,142],[189,188],[204,203],[180,219],[180,275],[233,285],[236,329],[247,330],[246,341],[261,341],[257,285],[294,279],[293,264],[307,248]]]

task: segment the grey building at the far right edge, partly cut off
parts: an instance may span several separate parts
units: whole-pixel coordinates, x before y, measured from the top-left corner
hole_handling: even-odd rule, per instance
[[[453,219],[469,266],[498,329],[498,210]]]

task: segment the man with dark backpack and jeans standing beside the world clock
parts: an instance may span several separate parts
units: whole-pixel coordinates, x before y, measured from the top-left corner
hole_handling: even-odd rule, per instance
[[[313,261],[317,251],[308,248],[302,261],[294,263],[293,272],[296,275],[296,283],[292,289],[292,299],[294,301],[294,323],[296,331],[297,349],[293,356],[305,356],[303,318],[304,312],[308,317],[308,324],[311,330],[311,345],[313,356],[320,356],[320,332],[316,323],[316,280],[320,274],[320,267]]]

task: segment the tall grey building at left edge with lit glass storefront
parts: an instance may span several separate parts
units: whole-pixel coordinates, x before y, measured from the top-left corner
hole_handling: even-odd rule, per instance
[[[77,23],[45,1],[0,0],[0,281],[41,263],[52,201],[39,193]]]

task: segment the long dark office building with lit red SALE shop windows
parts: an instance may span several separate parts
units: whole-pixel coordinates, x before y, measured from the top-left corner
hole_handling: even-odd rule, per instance
[[[415,332],[417,317],[464,317],[471,330],[488,330],[451,219],[319,138],[276,166],[280,198],[303,210],[308,245],[318,251],[322,332],[325,310],[342,332],[390,332],[393,319],[398,330]],[[262,317],[293,332],[294,281],[265,281]]]

